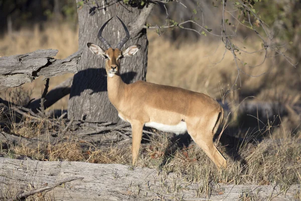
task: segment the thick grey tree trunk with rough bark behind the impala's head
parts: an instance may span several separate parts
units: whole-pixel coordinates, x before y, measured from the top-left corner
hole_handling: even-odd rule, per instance
[[[77,0],[77,3],[79,2],[82,1]],[[149,7],[153,8],[153,5]],[[136,29],[136,26],[129,26],[129,23],[130,25],[138,23],[138,19],[145,9],[146,7],[141,10],[133,8],[122,2],[107,2],[107,5],[103,6],[103,1],[98,1],[94,5],[88,2],[78,9],[79,48],[83,49],[83,54],[79,63],[79,72],[74,76],[71,87],[68,104],[69,119],[120,123],[118,113],[108,99],[104,60],[93,55],[87,48],[87,43],[96,43],[103,47],[97,39],[97,33],[108,19],[118,15],[131,33],[131,39],[124,45],[124,48],[135,44],[141,45],[137,54],[122,60],[121,77],[126,83],[145,80],[148,46],[146,30],[140,29],[139,32],[133,34],[132,30]],[[150,11],[147,12],[149,15]],[[117,18],[113,18],[109,22],[102,32],[102,36],[113,48],[116,47],[125,36]]]

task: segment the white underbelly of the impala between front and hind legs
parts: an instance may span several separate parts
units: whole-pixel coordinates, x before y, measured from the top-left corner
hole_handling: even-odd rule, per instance
[[[180,122],[177,125],[165,125],[157,122],[147,122],[145,126],[158,129],[163,132],[175,133],[177,135],[183,134],[187,131],[187,126],[185,122]]]

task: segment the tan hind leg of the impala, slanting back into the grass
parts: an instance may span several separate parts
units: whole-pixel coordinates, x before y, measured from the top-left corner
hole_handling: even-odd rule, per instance
[[[206,132],[205,135],[203,134],[203,132],[191,132],[190,135],[193,141],[195,141],[195,143],[203,149],[203,151],[216,164],[216,166],[223,168],[227,167],[227,161],[225,157],[213,144],[213,132]]]

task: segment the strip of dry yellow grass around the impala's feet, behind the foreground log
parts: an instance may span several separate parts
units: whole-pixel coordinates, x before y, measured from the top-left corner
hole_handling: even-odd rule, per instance
[[[22,129],[22,128],[21,128]],[[138,166],[158,168],[164,159],[166,149],[169,149],[170,139],[163,133],[150,136],[149,143],[142,144]],[[286,134],[281,140],[267,139],[258,143],[242,143],[234,152],[240,153],[246,160],[234,161],[225,154],[225,148],[219,146],[228,160],[225,170],[217,169],[212,161],[196,144],[178,148],[169,156],[168,163],[162,166],[163,172],[175,172],[189,182],[198,182],[202,186],[210,183],[228,184],[278,184],[283,190],[291,184],[301,181],[301,133]],[[0,153],[6,157],[31,157],[47,161],[84,161],[91,163],[121,163],[130,165],[131,147],[117,147],[95,149],[93,146],[83,149],[85,142],[71,137],[63,143],[49,144],[39,148],[27,146],[12,146],[1,148]],[[206,184],[206,185],[205,185]],[[210,186],[204,187],[208,191]]]

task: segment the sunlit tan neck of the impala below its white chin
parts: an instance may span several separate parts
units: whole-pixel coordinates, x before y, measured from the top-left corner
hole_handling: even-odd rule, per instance
[[[126,84],[122,81],[119,74],[113,77],[107,76],[108,96],[111,104],[118,110],[121,100],[124,97]]]

